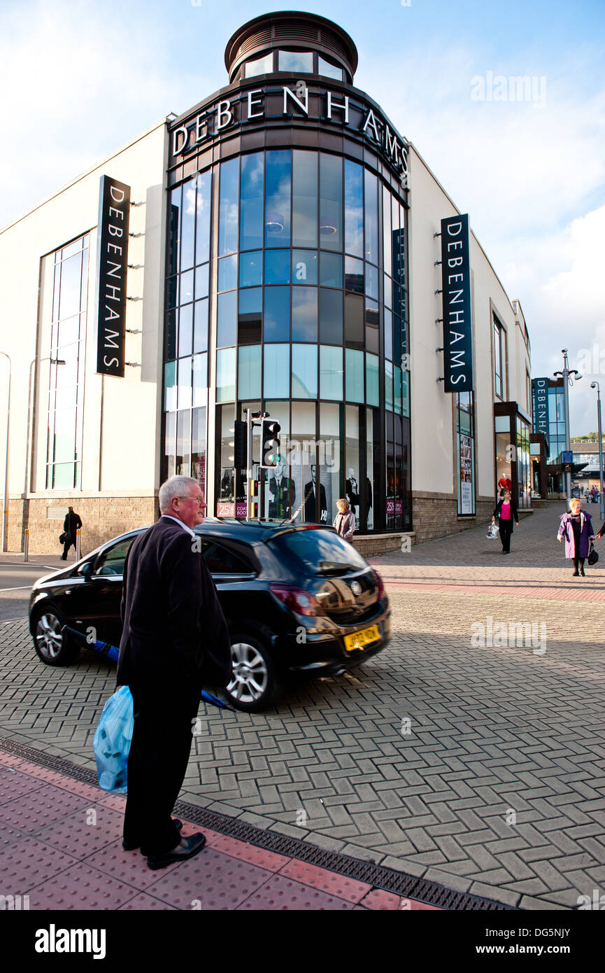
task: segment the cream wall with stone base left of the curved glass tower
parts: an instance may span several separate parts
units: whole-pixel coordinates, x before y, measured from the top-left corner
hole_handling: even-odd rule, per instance
[[[132,139],[0,231],[0,350],[12,359],[8,549],[22,549],[29,526],[32,553],[58,553],[60,523],[50,507],[69,504],[84,522],[83,553],[121,530],[155,517],[160,470],[162,308],[164,283],[165,119]],[[126,302],[125,378],[96,375],[96,225],[99,181],[112,176],[131,188]],[[85,340],[82,488],[47,490],[47,432],[53,305],[53,252],[89,233],[89,290]],[[50,255],[50,256],[47,256]],[[28,375],[34,367],[28,423]],[[60,366],[59,366],[60,368]],[[6,359],[0,357],[0,410],[6,408]],[[1,412],[0,414],[5,414]],[[28,424],[31,433],[28,437]],[[0,456],[6,448],[5,426]],[[25,465],[31,443],[29,475]],[[4,463],[2,462],[2,465]],[[26,483],[27,479],[27,483]],[[58,529],[57,529],[58,525]]]

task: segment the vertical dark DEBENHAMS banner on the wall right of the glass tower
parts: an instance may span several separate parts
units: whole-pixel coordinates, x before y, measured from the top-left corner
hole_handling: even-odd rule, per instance
[[[473,389],[469,216],[442,220],[445,392]]]

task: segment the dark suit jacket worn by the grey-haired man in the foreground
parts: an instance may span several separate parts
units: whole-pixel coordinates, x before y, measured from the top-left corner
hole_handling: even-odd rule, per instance
[[[117,684],[226,686],[231,640],[194,539],[160,518],[133,541],[124,565]]]

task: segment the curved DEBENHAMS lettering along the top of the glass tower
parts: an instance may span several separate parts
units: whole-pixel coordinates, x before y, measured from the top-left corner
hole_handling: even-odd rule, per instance
[[[267,95],[274,97],[275,94],[281,102],[281,116],[267,116]],[[355,126],[397,169],[404,187],[408,186],[408,145],[403,139],[400,141],[379,113],[368,105],[360,106],[351,102],[348,94],[336,94],[333,91],[320,92],[317,101],[319,114],[309,115],[309,90],[302,83],[295,89],[287,85],[267,90],[257,88],[243,91],[237,98],[225,98],[172,130],[172,159],[176,161],[180,156],[194,152],[204,142],[233,126],[257,122],[262,118],[275,120],[283,116],[296,116],[300,119]]]

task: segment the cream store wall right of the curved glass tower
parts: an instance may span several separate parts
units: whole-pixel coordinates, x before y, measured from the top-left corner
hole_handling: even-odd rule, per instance
[[[529,356],[516,310],[471,230],[470,257],[475,372],[477,517],[457,515],[454,395],[444,391],[441,221],[460,211],[413,145],[409,150],[409,353],[413,530],[419,541],[455,533],[491,518],[495,497],[493,324],[507,333],[506,401],[526,402]],[[472,215],[470,214],[471,222]],[[523,322],[524,328],[524,322]]]

